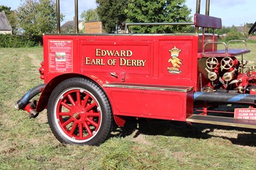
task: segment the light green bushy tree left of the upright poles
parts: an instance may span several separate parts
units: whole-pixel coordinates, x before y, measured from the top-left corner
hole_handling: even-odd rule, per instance
[[[56,31],[56,4],[54,0],[24,0],[17,9],[19,26],[30,40],[42,42],[43,33]],[[63,15],[61,15],[63,20]]]

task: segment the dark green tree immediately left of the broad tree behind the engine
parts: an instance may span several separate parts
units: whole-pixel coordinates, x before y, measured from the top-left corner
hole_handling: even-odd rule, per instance
[[[97,13],[106,33],[115,33],[127,19],[127,0],[96,0]]]

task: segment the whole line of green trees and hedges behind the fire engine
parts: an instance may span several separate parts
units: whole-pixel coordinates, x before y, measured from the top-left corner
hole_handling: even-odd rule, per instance
[[[16,39],[17,36],[22,36],[21,41],[28,40],[29,45],[33,45],[33,42],[42,44],[44,33],[56,33],[55,0],[22,0],[20,2],[17,10],[0,6],[0,12],[4,10],[6,13]],[[191,22],[189,17],[191,10],[186,6],[186,0],[96,0],[96,3],[96,9],[86,10],[80,17],[84,21],[101,21],[105,33],[118,33],[124,29],[125,22]],[[61,21],[64,17],[61,13]],[[131,29],[132,33],[195,31],[191,26],[132,26]],[[216,31],[219,34],[229,32],[237,35],[234,27],[223,27]],[[1,37],[3,40],[3,36]],[[8,39],[6,36],[4,38]],[[11,41],[10,38],[9,41]],[[0,47],[3,45],[0,44]]]

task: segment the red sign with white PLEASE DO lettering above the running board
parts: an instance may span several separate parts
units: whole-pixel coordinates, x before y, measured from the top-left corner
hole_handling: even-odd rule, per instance
[[[256,120],[256,108],[235,109],[234,118],[243,120]]]

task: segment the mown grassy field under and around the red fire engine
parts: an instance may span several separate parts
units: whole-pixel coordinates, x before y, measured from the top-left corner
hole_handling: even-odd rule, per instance
[[[256,43],[248,49],[255,60]],[[256,169],[256,133],[246,128],[129,120],[98,147],[60,144],[45,111],[29,119],[13,108],[42,83],[42,50],[0,49],[0,169]]]

